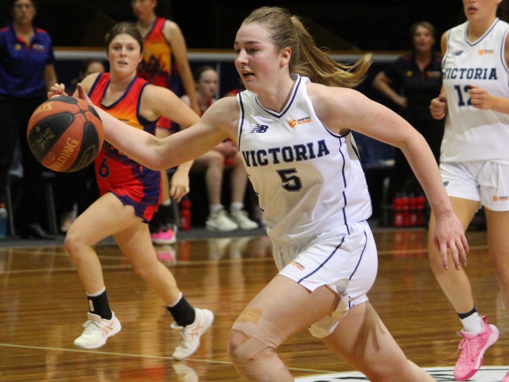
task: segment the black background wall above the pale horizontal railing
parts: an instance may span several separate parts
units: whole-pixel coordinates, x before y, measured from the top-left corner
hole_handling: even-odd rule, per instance
[[[461,0],[202,3],[159,0],[157,13],[180,25],[190,48],[231,48],[243,18],[263,5],[286,7],[301,16],[319,45],[334,50],[407,50],[413,22],[428,20],[440,35],[464,19]],[[0,0],[0,24],[10,20],[10,4]],[[39,0],[36,23],[51,34],[55,46],[102,46],[112,25],[133,18],[129,0]]]

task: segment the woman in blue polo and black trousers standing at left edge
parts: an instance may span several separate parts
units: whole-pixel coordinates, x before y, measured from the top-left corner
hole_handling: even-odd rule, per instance
[[[13,0],[13,22],[0,29],[0,203],[19,139],[23,154],[23,200],[16,220],[23,236],[51,238],[40,226],[42,166],[26,142],[26,126],[35,108],[56,81],[53,48],[48,33],[32,25],[36,0]],[[9,211],[12,213],[12,211]]]

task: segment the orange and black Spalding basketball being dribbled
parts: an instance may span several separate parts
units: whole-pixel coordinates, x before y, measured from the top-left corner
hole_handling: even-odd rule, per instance
[[[34,156],[53,171],[72,172],[88,166],[104,140],[101,118],[86,101],[61,96],[36,108],[26,139]]]

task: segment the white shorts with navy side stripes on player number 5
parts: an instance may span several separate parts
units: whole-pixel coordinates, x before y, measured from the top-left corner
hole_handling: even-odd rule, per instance
[[[279,275],[309,291],[328,285],[341,301],[332,315],[309,328],[315,337],[330,335],[348,309],[368,300],[378,269],[375,240],[365,222],[342,225],[318,236],[288,245],[274,245]]]

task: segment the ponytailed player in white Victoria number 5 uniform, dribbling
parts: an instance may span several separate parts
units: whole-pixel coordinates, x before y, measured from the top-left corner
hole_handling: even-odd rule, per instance
[[[407,360],[366,297],[377,254],[351,130],[407,155],[437,216],[434,238],[445,265],[449,250],[459,267],[468,246],[426,141],[384,106],[340,87],[361,80],[369,57],[338,65],[285,10],[253,11],[234,46],[247,90],[218,100],[182,132],[158,140],[98,110],[107,140],[154,169],[200,156],[228,137],[237,142],[280,273],[234,323],[233,364],[246,380],[293,381],[275,349],[310,326],[372,381],[433,380]]]

